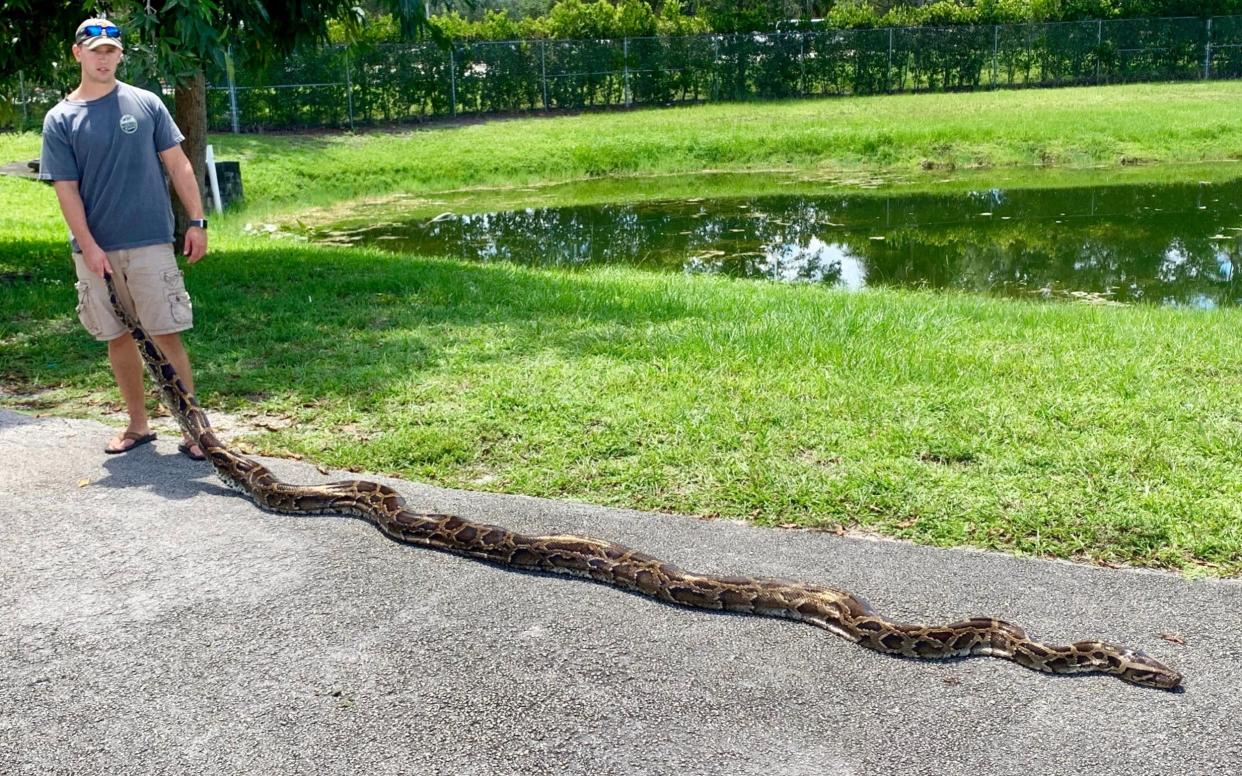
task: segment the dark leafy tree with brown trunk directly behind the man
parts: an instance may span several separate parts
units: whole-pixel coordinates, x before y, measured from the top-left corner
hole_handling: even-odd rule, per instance
[[[380,0],[415,37],[428,31],[425,0]],[[77,25],[89,16],[116,20],[127,56],[174,86],[174,118],[204,187],[207,112],[204,66],[222,63],[226,47],[262,63],[328,40],[328,22],[355,27],[356,0],[0,0],[0,79],[63,61]],[[137,55],[137,56],[135,56]],[[184,210],[178,204],[178,232]]]

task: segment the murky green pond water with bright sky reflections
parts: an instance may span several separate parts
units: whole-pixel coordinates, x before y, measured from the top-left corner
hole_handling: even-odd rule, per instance
[[[469,261],[619,263],[850,289],[1242,304],[1242,180],[445,214],[329,227],[313,238]]]

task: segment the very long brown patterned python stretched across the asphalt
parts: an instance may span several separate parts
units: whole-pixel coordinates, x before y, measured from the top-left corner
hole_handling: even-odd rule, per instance
[[[1181,684],[1181,674],[1139,651],[1099,641],[1047,644],[1016,625],[975,617],[941,626],[893,622],[851,592],[779,579],[689,574],[651,555],[586,536],[527,536],[450,514],[416,513],[386,485],[351,479],[293,485],[265,466],[229,449],[159,348],[119,303],[106,277],[117,315],[129,327],[163,402],[204,451],[216,474],[258,507],[282,514],[347,514],[371,521],[388,536],[491,561],[513,569],[585,577],[669,603],[785,617],[818,626],[861,647],[908,658],[990,656],[1035,670],[1107,673],[1160,689]]]

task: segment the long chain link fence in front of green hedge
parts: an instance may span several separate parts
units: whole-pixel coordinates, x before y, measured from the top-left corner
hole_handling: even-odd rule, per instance
[[[137,70],[137,68],[135,68]],[[73,73],[76,76],[76,73]],[[1242,77],[1242,16],[329,47],[207,72],[212,130],[895,92]],[[63,81],[63,79],[62,79]],[[76,83],[0,84],[0,128]]]

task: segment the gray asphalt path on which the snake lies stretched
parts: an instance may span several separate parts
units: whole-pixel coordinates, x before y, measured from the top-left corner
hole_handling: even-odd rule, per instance
[[[108,436],[0,411],[6,776],[1242,774],[1242,581],[373,478],[414,509],[846,587],[907,621],[1115,641],[1186,680],[907,661],[404,546],[358,519],[271,515],[174,435],[104,456]]]

